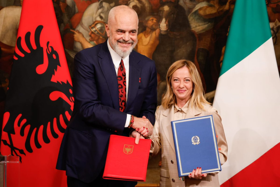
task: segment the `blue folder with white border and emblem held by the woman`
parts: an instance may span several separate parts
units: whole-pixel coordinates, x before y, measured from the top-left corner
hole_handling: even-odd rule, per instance
[[[201,173],[222,170],[212,115],[172,121],[171,126],[179,177],[197,167]]]

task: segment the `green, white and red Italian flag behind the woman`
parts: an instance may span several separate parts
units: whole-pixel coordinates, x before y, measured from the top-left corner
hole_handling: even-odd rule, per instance
[[[213,106],[228,143],[221,186],[280,186],[280,78],[265,0],[235,3]]]

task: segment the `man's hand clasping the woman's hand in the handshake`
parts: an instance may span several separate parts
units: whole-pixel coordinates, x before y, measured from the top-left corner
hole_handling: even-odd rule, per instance
[[[144,137],[153,134],[153,125],[145,116],[142,118],[134,117],[132,128],[136,129],[136,131],[141,133]]]

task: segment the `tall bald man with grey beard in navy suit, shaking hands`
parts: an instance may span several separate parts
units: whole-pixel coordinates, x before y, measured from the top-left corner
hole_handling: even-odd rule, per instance
[[[143,126],[144,136],[153,132],[157,72],[154,61],[132,51],[137,30],[136,12],[114,7],[106,25],[108,40],[75,56],[74,109],[56,167],[66,170],[69,187],[137,184],[102,178],[110,135],[129,136]],[[127,160],[128,167],[133,164]]]

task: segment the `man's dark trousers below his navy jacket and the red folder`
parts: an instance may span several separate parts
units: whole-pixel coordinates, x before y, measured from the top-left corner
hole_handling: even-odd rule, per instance
[[[103,179],[102,170],[99,176],[90,183],[85,183],[80,181],[79,179],[75,179],[73,177],[67,176],[67,186],[68,187],[134,187],[137,182],[134,181],[125,181],[125,180],[110,180]]]

